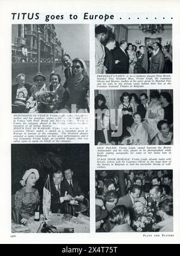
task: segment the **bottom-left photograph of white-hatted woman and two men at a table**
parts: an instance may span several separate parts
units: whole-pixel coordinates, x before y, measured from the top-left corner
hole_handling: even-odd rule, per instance
[[[11,145],[11,232],[89,233],[89,145]]]

